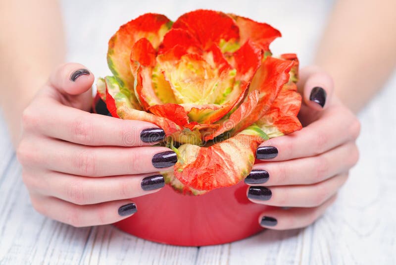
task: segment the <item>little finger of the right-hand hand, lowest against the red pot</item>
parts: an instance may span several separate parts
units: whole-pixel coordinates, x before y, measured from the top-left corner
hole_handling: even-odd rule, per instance
[[[261,226],[274,230],[287,230],[306,227],[316,221],[331,206],[337,196],[333,195],[322,205],[314,208],[271,209],[258,218]]]

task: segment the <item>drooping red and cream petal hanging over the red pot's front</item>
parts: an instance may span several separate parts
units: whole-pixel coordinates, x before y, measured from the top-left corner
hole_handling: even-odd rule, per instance
[[[199,191],[228,187],[244,179],[254,163],[254,152],[266,137],[248,128],[246,131],[210,147],[184,144],[174,175],[184,185]],[[264,134],[265,135],[265,134]]]

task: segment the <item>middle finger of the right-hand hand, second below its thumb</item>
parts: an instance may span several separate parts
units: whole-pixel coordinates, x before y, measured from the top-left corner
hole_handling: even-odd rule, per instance
[[[356,144],[349,142],[315,157],[255,164],[245,183],[252,186],[314,184],[348,171],[358,158]]]

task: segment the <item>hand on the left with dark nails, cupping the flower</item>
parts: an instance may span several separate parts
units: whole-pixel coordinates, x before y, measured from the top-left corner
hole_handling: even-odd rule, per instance
[[[94,76],[77,63],[59,66],[23,112],[17,156],[33,207],[73,226],[119,221],[137,211],[129,198],[162,188],[158,168],[176,154],[148,147],[156,125],[92,114]]]

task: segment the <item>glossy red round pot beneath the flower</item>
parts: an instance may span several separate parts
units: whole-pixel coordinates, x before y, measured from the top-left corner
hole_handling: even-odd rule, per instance
[[[178,246],[240,240],[263,229],[258,217],[269,209],[251,203],[246,197],[247,187],[241,181],[232,187],[189,196],[166,185],[159,192],[134,198],[138,212],[115,226],[143,239]]]

